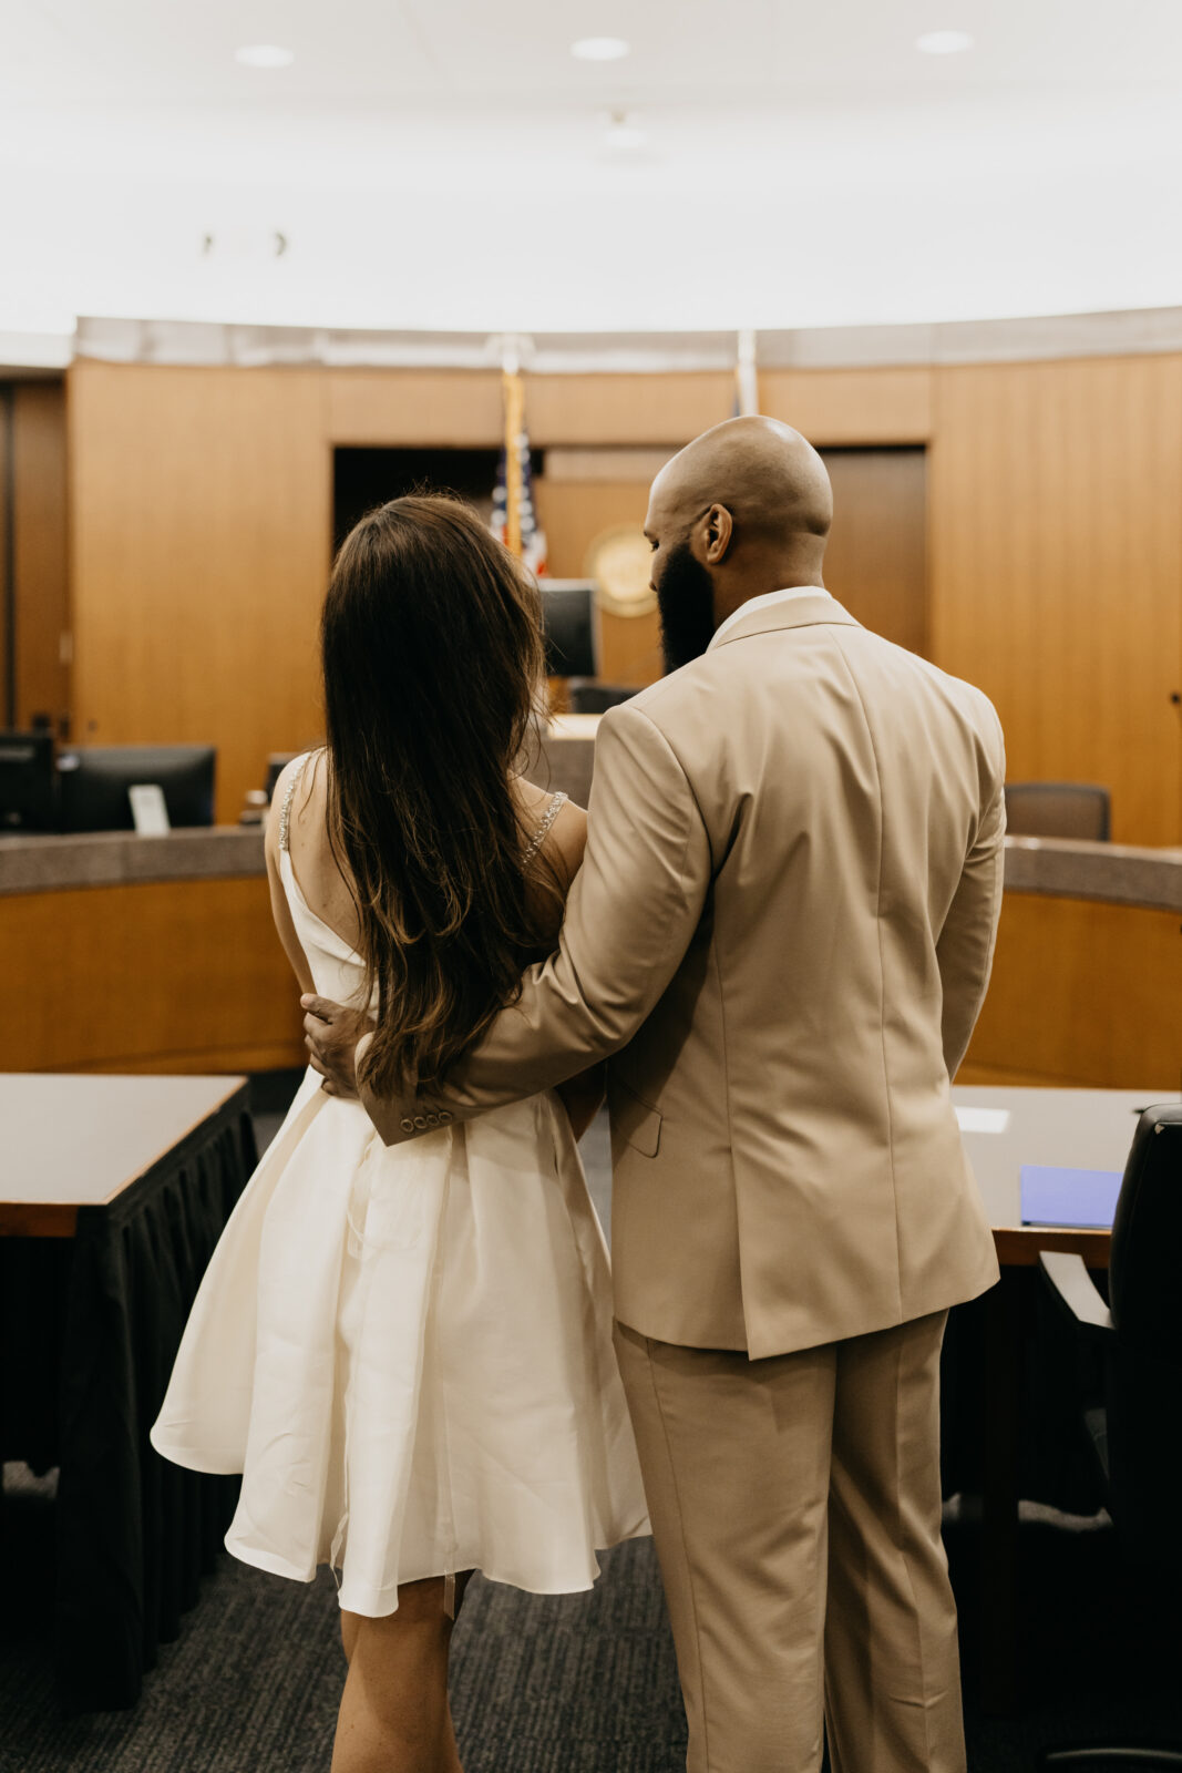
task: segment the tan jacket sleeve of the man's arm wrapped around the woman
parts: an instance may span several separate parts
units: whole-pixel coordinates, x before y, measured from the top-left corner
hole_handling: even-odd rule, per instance
[[[450,1073],[443,1094],[404,1103],[362,1092],[383,1140],[422,1131],[413,1117],[461,1121],[535,1096],[626,1046],[689,947],[711,872],[702,814],[666,738],[642,709],[610,709],[558,952],[525,973],[519,1002]]]

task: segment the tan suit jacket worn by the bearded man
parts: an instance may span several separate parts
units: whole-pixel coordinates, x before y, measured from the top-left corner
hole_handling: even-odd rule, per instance
[[[427,1106],[610,1058],[622,1323],[755,1358],[996,1280],[950,1078],[992,959],[1003,777],[989,700],[820,592],[604,715],[560,950]]]

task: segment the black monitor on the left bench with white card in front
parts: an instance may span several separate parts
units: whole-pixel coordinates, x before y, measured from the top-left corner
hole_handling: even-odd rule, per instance
[[[131,832],[128,789],[163,791],[168,824],[213,824],[213,745],[85,745],[57,761],[64,832]]]

